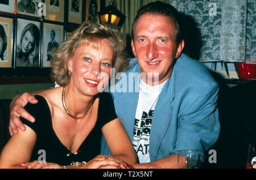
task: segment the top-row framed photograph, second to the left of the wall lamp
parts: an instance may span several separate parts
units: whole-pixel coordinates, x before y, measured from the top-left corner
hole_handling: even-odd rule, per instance
[[[68,22],[76,24],[82,23],[82,0],[68,1]]]

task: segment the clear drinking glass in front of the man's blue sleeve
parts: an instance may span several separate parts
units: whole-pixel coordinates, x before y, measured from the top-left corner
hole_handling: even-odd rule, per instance
[[[192,150],[177,151],[178,169],[199,169],[200,153]]]

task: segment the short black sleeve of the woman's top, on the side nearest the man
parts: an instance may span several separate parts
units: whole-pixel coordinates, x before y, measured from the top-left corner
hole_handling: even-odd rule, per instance
[[[112,96],[110,93],[101,93],[98,106],[98,121],[100,121],[101,127],[116,118],[117,114],[115,114],[115,106]]]

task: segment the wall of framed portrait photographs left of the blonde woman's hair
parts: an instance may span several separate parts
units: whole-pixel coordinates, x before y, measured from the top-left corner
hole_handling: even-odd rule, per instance
[[[100,0],[96,2],[98,10],[105,6]],[[3,77],[48,77],[52,50],[88,19],[88,3],[86,0],[0,1],[0,84]]]

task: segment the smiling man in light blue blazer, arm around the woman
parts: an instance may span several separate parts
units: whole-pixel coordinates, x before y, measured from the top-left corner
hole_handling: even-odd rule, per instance
[[[197,150],[203,159],[204,150],[218,138],[218,85],[200,62],[181,54],[180,28],[176,9],[163,2],[143,6],[134,20],[131,46],[136,58],[126,74],[146,76],[133,82],[139,92],[112,93],[140,162],[134,168],[176,168],[175,151],[182,149]],[[22,127],[17,114],[32,118],[20,105],[36,101],[27,93],[22,96],[11,113],[13,129],[13,122]],[[110,153],[104,139],[101,153]]]

